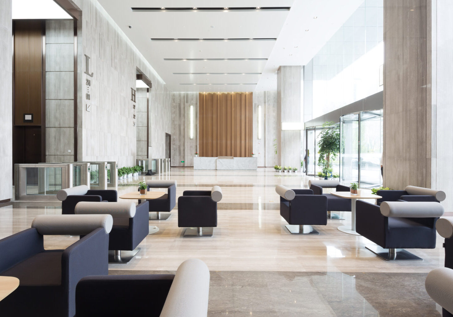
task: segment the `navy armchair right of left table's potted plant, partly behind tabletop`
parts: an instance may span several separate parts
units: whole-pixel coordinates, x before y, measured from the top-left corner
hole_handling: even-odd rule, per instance
[[[167,188],[167,193],[156,199],[149,199],[149,212],[156,212],[156,216],[149,215],[149,220],[167,220],[171,213],[161,214],[161,212],[170,212],[176,206],[176,181],[171,180],[149,180],[146,182],[149,188]]]

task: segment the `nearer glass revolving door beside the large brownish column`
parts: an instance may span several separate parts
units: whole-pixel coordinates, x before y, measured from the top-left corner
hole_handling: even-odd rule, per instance
[[[340,118],[340,180],[361,188],[382,185],[383,110],[363,111]]]

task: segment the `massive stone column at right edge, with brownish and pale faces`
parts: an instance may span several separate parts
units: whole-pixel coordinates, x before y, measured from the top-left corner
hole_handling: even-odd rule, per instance
[[[384,184],[447,192],[453,206],[453,3],[384,1]]]

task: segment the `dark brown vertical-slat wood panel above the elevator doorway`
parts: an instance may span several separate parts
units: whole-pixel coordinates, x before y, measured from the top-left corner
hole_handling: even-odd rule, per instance
[[[41,20],[14,22],[14,125],[41,125],[43,34]],[[24,122],[33,113],[33,122]]]

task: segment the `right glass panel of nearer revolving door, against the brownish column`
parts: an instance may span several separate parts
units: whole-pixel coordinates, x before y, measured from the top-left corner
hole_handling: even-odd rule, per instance
[[[360,187],[381,186],[383,110],[360,113]]]

